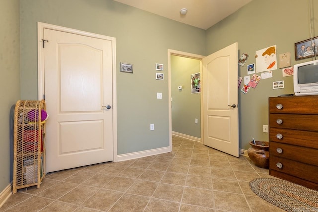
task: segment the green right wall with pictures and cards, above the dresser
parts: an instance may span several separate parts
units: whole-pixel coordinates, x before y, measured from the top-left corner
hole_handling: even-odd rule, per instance
[[[291,52],[291,64],[294,65],[294,43],[310,38],[308,2],[253,0],[207,30],[207,55],[238,42],[239,55],[250,55],[245,66],[239,66],[241,77],[247,75],[247,65],[255,63],[255,52],[272,45],[277,45],[277,60],[279,54]],[[316,26],[313,36],[318,36],[318,2],[313,2]],[[305,61],[308,59],[297,63]],[[285,81],[285,88],[273,90],[272,83],[281,80]],[[261,80],[256,89],[251,88],[247,94],[239,91],[240,148],[248,149],[252,138],[268,141],[268,133],[263,133],[263,125],[268,124],[268,97],[292,93],[293,77],[282,77],[282,69],[274,70],[273,78]]]

